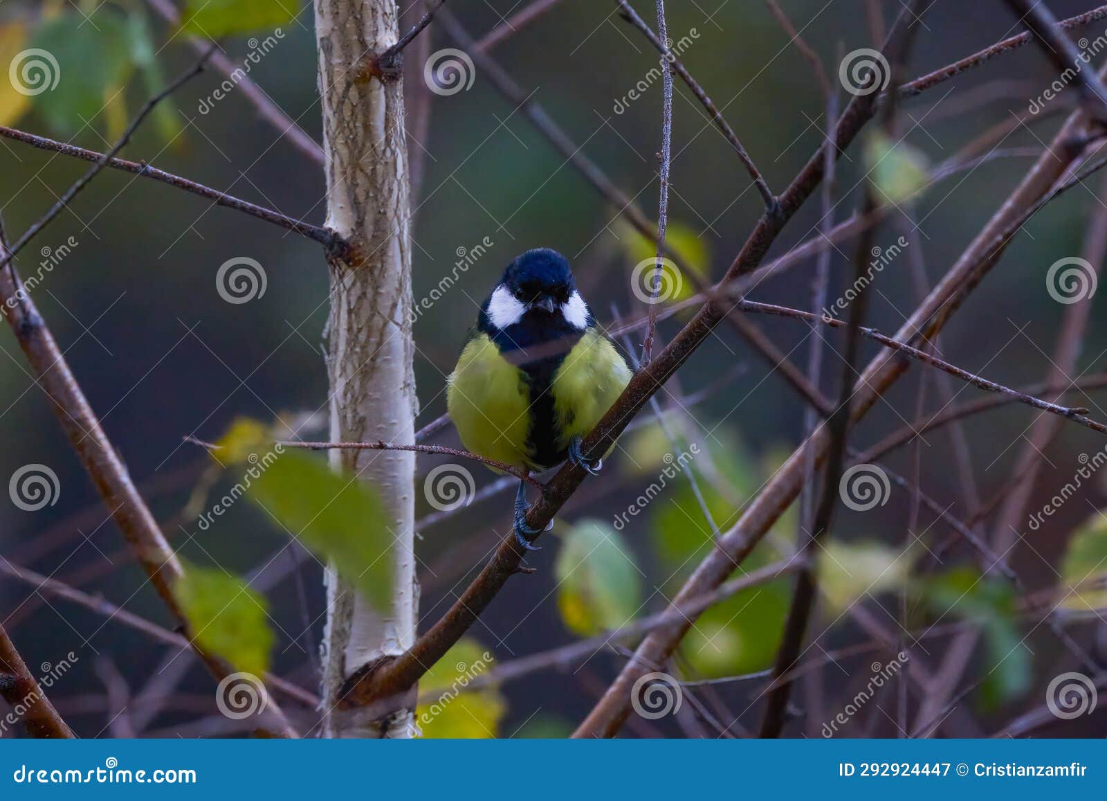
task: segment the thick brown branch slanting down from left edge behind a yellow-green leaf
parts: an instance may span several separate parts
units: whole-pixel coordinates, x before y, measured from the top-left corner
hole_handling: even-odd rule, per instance
[[[173,591],[175,582],[184,574],[180,562],[166,542],[149,507],[135,489],[126,465],[104,433],[95,412],[89,405],[45,320],[19,280],[15,263],[8,258],[2,225],[0,225],[0,257],[8,264],[7,269],[0,270],[0,302],[4,310],[3,316],[27,357],[34,382],[50,399],[62,431],[100,492],[112,518],[145,569],[154,589],[165,602],[182,630],[187,634],[188,620]],[[196,643],[192,645],[216,678],[221,679],[234,672],[234,668],[223,659],[206,653]],[[275,730],[259,728],[259,735],[296,736],[296,731],[276,704],[269,705],[266,713],[275,722]]]

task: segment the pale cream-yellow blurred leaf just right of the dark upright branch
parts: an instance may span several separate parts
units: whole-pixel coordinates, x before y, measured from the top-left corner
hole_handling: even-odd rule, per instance
[[[878,542],[844,543],[831,538],[819,548],[819,587],[827,595],[831,618],[862,595],[903,587],[910,569],[908,552]]]

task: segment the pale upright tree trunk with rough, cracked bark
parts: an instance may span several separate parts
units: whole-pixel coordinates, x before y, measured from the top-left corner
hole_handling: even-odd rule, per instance
[[[366,57],[397,39],[394,0],[315,0],[319,88],[327,154],[328,225],[353,245],[331,260],[328,368],[332,441],[413,442],[416,413],[411,338],[407,154],[400,80],[366,78]],[[331,463],[380,492],[394,538],[391,608],[380,614],[333,574],[327,577],[323,704],[333,737],[406,737],[413,716],[338,712],[359,668],[414,640],[415,460],[396,451],[331,451]],[[351,521],[358,525],[359,521]],[[377,521],[366,521],[377,525]]]

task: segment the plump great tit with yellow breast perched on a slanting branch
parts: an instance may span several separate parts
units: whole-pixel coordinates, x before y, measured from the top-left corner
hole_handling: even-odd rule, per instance
[[[473,453],[525,473],[570,459],[594,475],[602,459],[583,458],[581,437],[630,377],[577,291],[569,261],[536,248],[507,266],[480,307],[449,377],[446,407]],[[515,495],[515,536],[537,551],[525,487],[520,481]]]

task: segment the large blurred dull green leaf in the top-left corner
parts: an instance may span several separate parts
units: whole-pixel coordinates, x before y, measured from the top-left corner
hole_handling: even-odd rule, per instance
[[[96,14],[95,24],[72,13],[48,20],[34,32],[31,47],[43,53],[37,57],[41,75],[56,79],[52,89],[39,85],[34,109],[51,130],[65,136],[99,117],[133,69],[126,20],[111,10]]]

